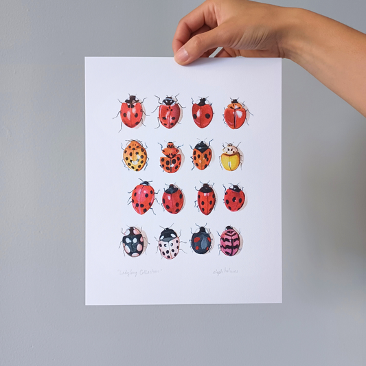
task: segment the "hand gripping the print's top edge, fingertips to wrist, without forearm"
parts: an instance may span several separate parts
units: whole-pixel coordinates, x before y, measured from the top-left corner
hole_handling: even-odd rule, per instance
[[[295,9],[248,0],[207,0],[179,22],[173,39],[181,65],[208,57],[286,57],[286,34]]]

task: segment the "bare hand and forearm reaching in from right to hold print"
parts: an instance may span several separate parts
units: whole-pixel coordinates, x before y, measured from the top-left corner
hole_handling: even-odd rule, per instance
[[[187,65],[208,57],[293,60],[366,117],[366,34],[297,8],[248,0],[207,0],[178,24],[174,58]]]

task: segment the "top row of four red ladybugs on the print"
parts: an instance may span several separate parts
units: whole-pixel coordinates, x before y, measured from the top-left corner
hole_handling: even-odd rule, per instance
[[[155,97],[157,97],[157,95],[155,95]],[[159,108],[159,117],[157,117],[157,119],[159,126],[162,124],[166,128],[173,128],[183,117],[181,104],[179,104],[176,97],[173,96],[168,97],[167,95],[162,103],[160,102],[160,98],[157,98],[157,108]],[[146,115],[144,100],[139,100],[135,95],[130,95],[124,102],[119,101],[119,103],[121,103],[121,110],[117,113],[117,116],[120,115],[122,119],[121,130],[123,125],[129,128],[135,128],[144,122],[144,117]],[[157,108],[155,108],[155,111]],[[152,113],[155,111],[152,111]],[[224,111],[224,122],[227,126],[236,130],[247,122],[249,115],[250,113],[247,106],[238,102],[238,99],[231,99],[231,103]],[[194,102],[192,99],[192,117],[194,123],[199,128],[207,127],[211,123],[213,116],[214,110],[207,98],[200,97],[198,102]]]

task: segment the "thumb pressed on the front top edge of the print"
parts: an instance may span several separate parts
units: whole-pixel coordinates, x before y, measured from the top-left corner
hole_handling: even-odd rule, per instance
[[[174,55],[174,60],[180,65],[187,65],[201,57],[206,51],[216,47],[225,47],[225,30],[222,25],[205,33],[196,34]]]

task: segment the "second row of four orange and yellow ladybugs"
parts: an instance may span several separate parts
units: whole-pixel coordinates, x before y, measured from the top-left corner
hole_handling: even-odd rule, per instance
[[[209,141],[210,143],[211,141]],[[194,146],[192,152],[192,163],[193,168],[199,170],[205,170],[212,159],[211,147],[205,141],[200,141],[196,146]],[[167,173],[175,173],[181,168],[182,164],[182,152],[179,150],[179,146],[174,146],[172,142],[168,142],[166,148],[161,146],[161,152],[163,152],[163,157],[160,158],[160,166]],[[125,147],[122,145],[123,162],[124,165],[134,172],[139,172],[148,161],[148,153],[146,147],[143,146],[142,141],[130,140]],[[227,144],[222,149],[222,154],[220,155],[220,163],[223,168],[232,172],[238,169],[242,161],[242,155],[238,150],[238,146],[233,146],[233,144]]]

